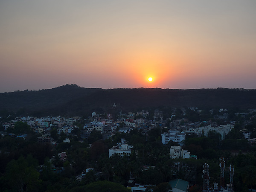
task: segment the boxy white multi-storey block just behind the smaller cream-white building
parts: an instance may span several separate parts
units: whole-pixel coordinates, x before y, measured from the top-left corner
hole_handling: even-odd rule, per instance
[[[179,133],[177,130],[169,130],[169,133],[163,133],[162,143],[166,145],[169,141],[177,142],[179,145],[183,145],[182,141],[186,139],[185,132]]]

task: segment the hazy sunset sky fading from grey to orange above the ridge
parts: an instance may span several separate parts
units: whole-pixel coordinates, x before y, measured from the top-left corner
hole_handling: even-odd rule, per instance
[[[0,0],[0,92],[65,84],[255,89],[256,0]]]

